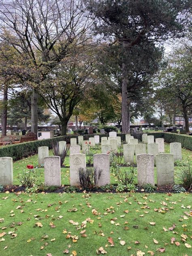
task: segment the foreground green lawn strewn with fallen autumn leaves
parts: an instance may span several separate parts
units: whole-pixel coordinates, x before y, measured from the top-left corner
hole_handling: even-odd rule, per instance
[[[158,248],[190,256],[191,200],[187,193],[1,193],[0,255],[90,256],[103,247],[110,256],[159,255]]]

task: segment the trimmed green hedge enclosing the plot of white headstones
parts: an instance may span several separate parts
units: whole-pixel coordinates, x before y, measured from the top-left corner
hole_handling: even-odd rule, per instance
[[[94,137],[95,134],[82,135],[84,140],[89,140],[90,137]],[[149,133],[148,133],[149,135]],[[192,150],[192,136],[174,134],[171,132],[154,132],[150,133],[150,135],[154,135],[154,138],[164,138],[166,142],[180,142],[182,147],[186,149]],[[100,134],[101,137],[108,137],[108,134]],[[117,136],[121,137],[122,141],[125,141],[125,134],[117,134]],[[78,135],[68,135],[68,136],[59,136],[53,139],[45,139],[39,141],[30,141],[25,143],[18,143],[8,146],[0,147],[0,157],[12,157],[14,161],[26,158],[33,154],[38,153],[38,147],[47,146],[49,149],[52,148],[52,143],[55,141],[66,141],[66,143],[70,143],[70,138],[77,138]]]

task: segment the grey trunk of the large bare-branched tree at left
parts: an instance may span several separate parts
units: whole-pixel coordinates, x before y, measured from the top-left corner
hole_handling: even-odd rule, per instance
[[[32,99],[31,99],[31,131],[36,134],[37,138],[37,130],[38,130],[38,94],[36,90],[33,88]]]

